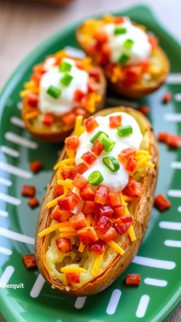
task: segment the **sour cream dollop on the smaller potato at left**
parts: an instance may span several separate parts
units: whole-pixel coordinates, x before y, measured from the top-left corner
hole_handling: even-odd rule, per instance
[[[43,114],[53,113],[61,116],[68,113],[76,106],[74,101],[74,93],[76,90],[81,90],[83,93],[88,92],[89,74],[87,71],[81,70],[76,67],[75,61],[70,58],[64,58],[63,62],[71,64],[71,71],[68,73],[73,77],[68,86],[61,84],[60,79],[64,73],[59,71],[58,66],[54,66],[54,58],[48,58],[43,68],[46,72],[43,74],[40,81],[40,94],[39,94],[39,109]],[[55,99],[47,93],[48,88],[53,85],[62,91],[59,98]]]

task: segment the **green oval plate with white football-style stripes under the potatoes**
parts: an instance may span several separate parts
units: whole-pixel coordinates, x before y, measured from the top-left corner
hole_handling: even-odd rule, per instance
[[[179,94],[181,47],[160,27],[145,6],[133,7],[126,14],[157,34],[171,62],[167,84],[138,103],[151,107],[150,121],[156,134],[180,134]],[[79,22],[80,23],[80,22]],[[76,47],[73,24],[52,35],[36,48],[16,69],[5,85],[0,100],[0,309],[6,321],[48,322],[156,322],[165,321],[181,301],[181,196],[180,149],[160,144],[160,171],[157,192],[168,195],[172,207],[164,213],[153,209],[138,255],[128,270],[109,288],[88,298],[71,298],[51,289],[37,270],[26,270],[22,256],[33,252],[39,208],[31,210],[21,196],[23,184],[35,185],[42,201],[52,166],[62,145],[36,141],[20,119],[19,91],[28,80],[33,64],[64,46]],[[161,99],[171,91],[174,99],[167,105]],[[179,94],[179,95],[178,95]],[[33,175],[29,162],[41,159],[44,170]],[[127,273],[140,273],[139,287],[124,285]],[[24,288],[3,288],[3,283],[23,283]]]

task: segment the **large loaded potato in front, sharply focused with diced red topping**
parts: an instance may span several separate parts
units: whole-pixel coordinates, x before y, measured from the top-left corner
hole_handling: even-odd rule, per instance
[[[54,166],[35,239],[44,279],[71,296],[105,289],[128,267],[148,225],[158,169],[142,113],[100,111],[84,121],[83,133],[81,121]]]

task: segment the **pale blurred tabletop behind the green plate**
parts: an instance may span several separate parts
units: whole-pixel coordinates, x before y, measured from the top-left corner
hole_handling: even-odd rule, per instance
[[[181,40],[181,0],[75,0],[64,7],[37,2],[0,1],[0,88],[37,44],[57,29],[86,15],[120,10],[142,2],[151,5],[160,22]],[[181,307],[167,322],[181,322]]]

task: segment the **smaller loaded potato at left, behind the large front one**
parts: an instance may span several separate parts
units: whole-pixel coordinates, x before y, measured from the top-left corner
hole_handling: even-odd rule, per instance
[[[77,115],[89,116],[104,105],[106,81],[91,58],[76,59],[56,52],[33,67],[20,93],[27,130],[46,142],[60,142],[74,126]]]

